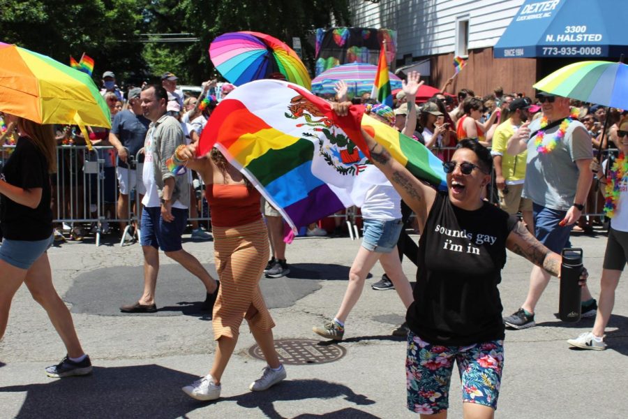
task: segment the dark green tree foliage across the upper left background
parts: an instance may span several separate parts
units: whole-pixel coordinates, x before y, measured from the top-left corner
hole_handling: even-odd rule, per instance
[[[85,52],[96,82],[107,70],[134,84],[172,71],[181,84],[199,84],[216,76],[208,48],[220,34],[259,31],[288,45],[297,36],[311,66],[313,29],[348,25],[349,16],[347,0],[0,0],[0,41],[64,64]],[[140,34],[181,33],[200,41],[140,42]]]

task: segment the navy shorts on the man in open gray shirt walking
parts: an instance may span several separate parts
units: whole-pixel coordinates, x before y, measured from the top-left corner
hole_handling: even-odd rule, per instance
[[[161,218],[161,207],[144,207],[140,223],[140,244],[152,246],[163,251],[178,251],[181,235],[188,223],[188,210],[172,208],[174,221],[167,223]]]

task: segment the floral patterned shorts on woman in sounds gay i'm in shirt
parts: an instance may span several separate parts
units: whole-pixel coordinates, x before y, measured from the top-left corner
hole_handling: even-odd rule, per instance
[[[449,407],[449,383],[458,362],[463,402],[497,409],[504,367],[504,341],[488,341],[470,346],[428,344],[411,331],[405,374],[408,409],[431,415]]]

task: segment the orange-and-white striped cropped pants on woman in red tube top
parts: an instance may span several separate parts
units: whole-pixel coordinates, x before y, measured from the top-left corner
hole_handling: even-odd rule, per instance
[[[264,222],[260,219],[244,226],[212,226],[212,233],[216,271],[220,279],[220,291],[211,322],[214,339],[237,337],[247,311],[257,311],[247,319],[249,328],[270,330],[275,323],[260,291],[260,277],[270,256]]]

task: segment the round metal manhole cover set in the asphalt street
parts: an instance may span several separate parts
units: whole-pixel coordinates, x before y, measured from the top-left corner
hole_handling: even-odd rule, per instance
[[[337,344],[327,344],[312,339],[281,339],[275,341],[279,360],[287,365],[324,364],[345,356],[346,349]],[[253,345],[248,349],[253,358],[264,360],[262,350]]]

